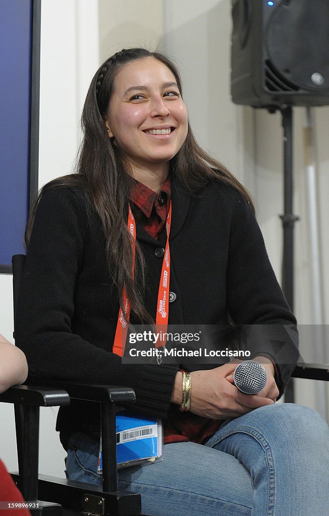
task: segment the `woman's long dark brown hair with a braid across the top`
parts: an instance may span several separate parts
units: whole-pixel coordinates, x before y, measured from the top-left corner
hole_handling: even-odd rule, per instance
[[[105,117],[111,102],[114,79],[121,67],[131,61],[154,57],[174,74],[180,93],[182,83],[174,63],[159,52],[129,49],[117,52],[105,61],[94,75],[83,106],[81,126],[83,139],[74,174],[63,176],[45,185],[39,192],[30,213],[25,233],[26,245],[30,239],[33,219],[42,192],[58,186],[84,188],[102,224],[106,239],[106,258],[116,285],[120,306],[123,307],[125,287],[131,312],[140,322],[152,322],[143,304],[145,262],[136,242],[135,279],[132,278],[131,235],[127,229],[128,199],[133,186],[129,164],[119,147],[113,144],[105,126]],[[236,188],[252,205],[248,191],[231,172],[198,145],[188,124],[187,137],[174,158],[171,167],[189,191],[199,190],[209,180],[221,180]]]

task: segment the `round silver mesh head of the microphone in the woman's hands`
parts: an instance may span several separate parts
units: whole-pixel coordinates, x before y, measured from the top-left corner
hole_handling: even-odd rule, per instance
[[[256,394],[264,389],[267,374],[262,364],[254,360],[247,360],[235,368],[233,379],[239,391],[245,394]]]

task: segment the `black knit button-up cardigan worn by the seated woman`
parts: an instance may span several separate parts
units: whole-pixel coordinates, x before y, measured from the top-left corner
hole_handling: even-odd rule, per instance
[[[155,240],[136,226],[147,264],[145,305],[155,317],[162,266],[156,251],[165,247],[165,231]],[[169,241],[170,291],[177,295],[169,324],[224,324],[228,312],[236,324],[296,324],[252,209],[234,188],[209,182],[191,194],[174,178]],[[111,352],[118,310],[98,216],[82,188],[50,188],[38,205],[16,311],[28,380],[129,385],[136,410],[165,418],[178,366],[122,364]],[[292,369],[278,364],[281,394]],[[86,410],[62,410],[59,429],[79,427]]]

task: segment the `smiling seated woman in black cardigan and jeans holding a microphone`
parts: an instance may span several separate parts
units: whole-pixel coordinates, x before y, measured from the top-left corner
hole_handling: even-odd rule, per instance
[[[29,380],[129,385],[128,408],[163,419],[164,460],[119,471],[145,514],[309,516],[317,507],[326,516],[327,425],[305,407],[274,404],[298,358],[296,319],[248,192],[194,138],[174,63],[144,49],[111,56],[92,80],[82,128],[76,173],[42,188],[26,231],[15,340]],[[267,373],[255,395],[234,385],[237,359],[122,360],[128,324],[168,335],[168,325],[232,321],[265,328],[250,357]],[[293,337],[282,339],[286,325]],[[72,403],[57,427],[68,477],[99,485],[99,408]]]

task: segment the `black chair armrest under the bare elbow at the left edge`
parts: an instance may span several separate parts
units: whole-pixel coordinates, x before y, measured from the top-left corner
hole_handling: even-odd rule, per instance
[[[38,407],[70,405],[70,396],[64,389],[14,385],[0,394],[0,402]]]

